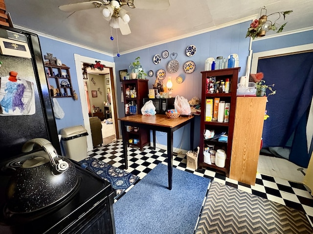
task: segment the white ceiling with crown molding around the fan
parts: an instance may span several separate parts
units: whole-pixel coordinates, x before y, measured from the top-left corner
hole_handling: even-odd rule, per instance
[[[116,29],[112,29],[115,38],[112,41],[111,27],[100,9],[78,11],[69,16],[71,13],[58,8],[59,5],[84,1],[88,0],[5,0],[5,3],[16,28],[40,32],[116,56]],[[283,33],[313,29],[313,0],[170,0],[167,10],[123,6],[131,17],[132,33],[123,36],[117,30],[119,53],[258,19],[263,6],[268,14],[293,10],[286,17],[288,23]],[[284,23],[283,20],[279,22]]]

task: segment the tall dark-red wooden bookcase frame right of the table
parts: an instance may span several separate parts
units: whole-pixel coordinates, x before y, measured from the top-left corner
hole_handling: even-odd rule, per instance
[[[201,131],[200,131],[200,152],[199,152],[199,166],[200,167],[210,167],[214,168],[218,171],[224,172],[225,175],[229,176],[229,168],[230,168],[230,160],[231,160],[231,148],[233,142],[233,130],[234,130],[234,122],[235,122],[235,110],[236,110],[236,91],[237,91],[237,82],[238,82],[238,73],[240,71],[240,67],[236,68],[228,68],[214,71],[204,71],[202,74],[202,91],[201,91]],[[215,79],[215,82],[221,83],[221,81],[225,82],[226,79],[229,80],[229,93],[210,93],[208,87],[208,80]],[[214,91],[212,91],[214,92]],[[219,122],[217,120],[209,120],[206,119],[206,112],[209,110],[206,108],[207,100],[211,100],[213,102],[214,109],[214,99],[220,98],[219,102],[229,103],[229,116],[228,122]],[[207,110],[206,110],[207,109]],[[213,111],[212,111],[213,112]],[[224,113],[224,110],[223,110]],[[205,139],[204,133],[205,131],[214,131],[215,136],[220,133],[225,132],[227,135],[227,142],[219,141],[218,139]],[[204,154],[203,151],[209,145],[214,145],[214,150],[222,149],[226,153],[225,165],[224,167],[218,167],[215,163],[205,163],[204,162]]]

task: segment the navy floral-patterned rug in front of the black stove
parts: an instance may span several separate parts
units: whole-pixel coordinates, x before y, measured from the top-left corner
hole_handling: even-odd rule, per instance
[[[89,167],[98,176],[112,184],[113,189],[116,190],[116,196],[114,199],[117,199],[129,186],[134,184],[134,182],[139,179],[138,176],[134,176],[131,173],[100,161],[94,157],[85,158],[84,160],[81,160],[80,163]]]

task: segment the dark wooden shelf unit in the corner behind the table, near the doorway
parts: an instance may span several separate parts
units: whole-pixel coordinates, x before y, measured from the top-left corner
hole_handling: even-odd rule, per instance
[[[125,116],[141,115],[143,98],[148,98],[148,79],[128,79],[122,81]],[[127,142],[142,148],[150,143],[150,130],[127,126]]]

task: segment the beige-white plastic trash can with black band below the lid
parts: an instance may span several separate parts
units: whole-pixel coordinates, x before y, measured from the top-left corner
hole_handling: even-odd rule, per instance
[[[61,129],[60,132],[65,156],[75,161],[87,157],[87,130],[82,125]]]

